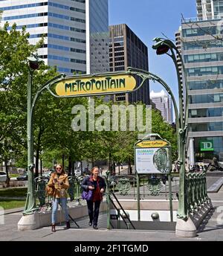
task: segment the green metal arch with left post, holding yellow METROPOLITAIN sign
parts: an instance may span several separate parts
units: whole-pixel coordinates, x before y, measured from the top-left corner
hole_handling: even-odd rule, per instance
[[[116,95],[121,93],[136,92],[146,82],[146,80],[157,81],[167,90],[172,97],[172,103],[175,109],[176,124],[178,125],[178,109],[172,90],[155,74],[148,71],[143,71],[138,68],[128,68],[125,72],[106,73],[106,74],[89,74],[73,77],[66,77],[65,74],[59,74],[56,77],[48,80],[44,85],[39,86],[36,95],[32,97],[32,82],[33,82],[33,62],[38,63],[38,58],[28,59],[29,73],[28,73],[28,104],[27,104],[27,133],[28,133],[28,194],[25,203],[25,211],[23,216],[29,216],[38,211],[36,208],[36,193],[34,188],[34,156],[33,156],[33,120],[34,110],[39,97],[45,90],[57,98],[70,98],[70,97],[91,97],[97,95]],[[31,65],[32,64],[32,65]],[[37,65],[36,65],[37,66]],[[138,78],[138,84],[136,78]],[[161,141],[160,138],[158,141]],[[156,141],[158,143],[158,141]],[[143,142],[143,141],[140,141]],[[164,145],[165,146],[165,145]],[[158,147],[158,145],[156,145]],[[142,147],[143,148],[143,147]],[[158,152],[158,158],[166,154],[161,151]],[[139,179],[138,179],[139,185]],[[139,188],[139,187],[138,187]],[[109,197],[107,197],[109,202]],[[108,203],[109,204],[109,203]],[[35,217],[33,217],[35,218]],[[108,222],[109,223],[109,222]],[[108,224],[109,225],[109,224]]]

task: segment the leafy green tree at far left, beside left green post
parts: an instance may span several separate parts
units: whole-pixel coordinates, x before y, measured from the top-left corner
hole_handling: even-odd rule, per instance
[[[11,159],[12,153],[25,146],[26,58],[39,47],[28,43],[29,33],[16,31],[8,23],[0,30],[0,156],[1,161]],[[8,172],[7,172],[8,176]]]

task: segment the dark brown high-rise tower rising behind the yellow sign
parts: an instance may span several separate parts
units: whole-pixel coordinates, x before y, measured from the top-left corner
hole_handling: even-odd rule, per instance
[[[110,30],[110,71],[126,71],[127,67],[149,71],[148,48],[126,25],[111,25]],[[137,78],[138,85],[140,80]],[[115,95],[115,101],[134,103],[141,101],[149,105],[149,81],[136,92]]]

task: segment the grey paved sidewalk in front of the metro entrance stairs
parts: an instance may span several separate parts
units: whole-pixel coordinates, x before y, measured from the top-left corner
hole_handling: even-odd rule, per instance
[[[204,220],[195,238],[176,237],[174,231],[135,231],[135,230],[107,230],[106,214],[100,214],[99,228],[94,230],[88,227],[88,217],[77,220],[80,229],[72,223],[71,229],[63,229],[65,225],[58,225],[56,233],[51,233],[51,227],[40,228],[34,231],[18,231],[17,223],[22,212],[14,212],[4,216],[4,225],[0,225],[1,241],[223,241],[223,188],[219,193],[210,193],[214,210]],[[22,210],[20,208],[20,210]],[[15,211],[15,210],[14,210]]]

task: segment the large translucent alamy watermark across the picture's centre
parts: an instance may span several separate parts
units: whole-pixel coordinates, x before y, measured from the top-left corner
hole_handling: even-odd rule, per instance
[[[136,132],[141,139],[152,133],[152,106],[112,105],[95,106],[94,99],[88,100],[88,109],[76,105],[72,109],[75,115],[71,127],[74,132]],[[143,116],[145,118],[143,118]]]

